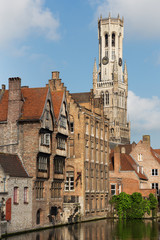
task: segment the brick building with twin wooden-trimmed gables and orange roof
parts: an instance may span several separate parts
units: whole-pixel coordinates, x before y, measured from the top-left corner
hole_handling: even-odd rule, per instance
[[[67,154],[68,112],[64,92],[21,87],[9,79],[1,91],[0,151],[17,153],[32,177],[32,225],[60,220]]]

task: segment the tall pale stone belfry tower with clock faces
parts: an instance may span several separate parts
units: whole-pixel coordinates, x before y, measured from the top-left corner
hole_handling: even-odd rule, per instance
[[[110,141],[130,142],[127,122],[128,73],[123,67],[123,18],[98,20],[99,68],[93,68],[95,98],[102,98],[104,113],[110,119]]]

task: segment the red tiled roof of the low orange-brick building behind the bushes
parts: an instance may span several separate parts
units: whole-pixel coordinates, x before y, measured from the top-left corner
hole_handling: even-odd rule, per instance
[[[114,171],[113,157],[114,157],[114,152],[112,151],[110,154],[110,166],[109,166],[110,171]],[[137,172],[136,168],[137,168],[137,164],[135,163],[135,161],[130,155],[126,153],[120,153],[120,170],[135,171],[135,173],[140,179],[147,180],[147,177],[141,172]]]

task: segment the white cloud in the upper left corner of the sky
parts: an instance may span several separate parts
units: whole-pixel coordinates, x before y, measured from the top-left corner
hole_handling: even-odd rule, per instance
[[[58,39],[59,20],[43,5],[43,0],[1,0],[1,46],[35,33],[51,40]]]

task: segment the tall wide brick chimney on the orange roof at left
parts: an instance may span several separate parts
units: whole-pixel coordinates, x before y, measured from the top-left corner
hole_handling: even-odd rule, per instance
[[[19,119],[21,107],[21,79],[19,77],[9,78],[8,122],[14,123]]]

